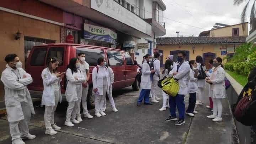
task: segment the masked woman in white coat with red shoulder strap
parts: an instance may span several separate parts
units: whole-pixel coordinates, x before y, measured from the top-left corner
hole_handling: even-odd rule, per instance
[[[98,58],[98,65],[92,70],[92,84],[95,93],[95,116],[106,116],[104,105],[110,91],[110,76],[105,58]]]

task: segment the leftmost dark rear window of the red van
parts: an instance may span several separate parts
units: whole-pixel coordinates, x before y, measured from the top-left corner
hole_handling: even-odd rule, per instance
[[[36,48],[31,56],[30,65],[44,66],[47,48]]]

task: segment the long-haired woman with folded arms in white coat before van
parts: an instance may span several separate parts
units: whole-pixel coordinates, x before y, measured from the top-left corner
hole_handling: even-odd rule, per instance
[[[81,106],[82,96],[82,83],[86,81],[84,75],[77,68],[79,61],[77,58],[72,58],[69,61],[69,65],[66,70],[66,79],[68,84],[66,86],[66,100],[69,102],[69,106],[66,112],[65,125],[73,127],[74,124],[80,123],[77,119],[80,114],[77,114],[78,107]]]

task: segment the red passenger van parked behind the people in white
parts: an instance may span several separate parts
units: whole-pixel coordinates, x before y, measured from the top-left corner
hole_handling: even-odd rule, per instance
[[[126,51],[81,44],[54,43],[33,47],[27,59],[26,71],[33,78],[32,84],[28,85],[32,97],[42,97],[43,80],[41,73],[47,67],[51,57],[57,57],[60,60],[58,71],[64,72],[69,64],[69,60],[77,57],[77,54],[80,52],[85,53],[85,61],[90,65],[90,75],[92,74],[92,69],[97,65],[97,59],[100,57],[106,58],[107,63],[114,72],[113,90],[122,89],[127,86],[132,86],[134,91],[139,90],[140,83],[136,79],[138,66],[133,64],[132,58]],[[91,78],[92,75],[89,81],[87,104],[93,107],[94,95],[92,95]],[[64,79],[61,82],[63,100],[65,100],[65,89],[66,80]]]

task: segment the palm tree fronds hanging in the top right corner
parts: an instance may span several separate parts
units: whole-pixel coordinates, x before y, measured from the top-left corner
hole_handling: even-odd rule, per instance
[[[234,5],[240,5],[242,2],[247,1],[247,4],[244,7],[244,10],[241,14],[241,22],[244,23],[246,21],[246,12],[249,6],[249,2],[253,1],[253,5],[251,7],[251,14],[250,14],[250,28],[252,31],[256,30],[256,19],[255,19],[255,1],[256,0],[234,0]],[[245,30],[245,24],[242,25],[243,30]]]

